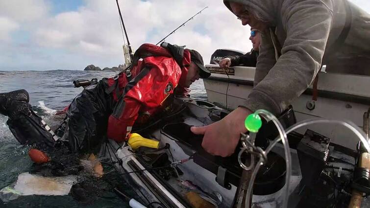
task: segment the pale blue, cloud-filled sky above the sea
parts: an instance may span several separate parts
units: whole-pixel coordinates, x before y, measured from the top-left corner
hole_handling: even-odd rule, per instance
[[[370,12],[370,0],[351,0]],[[204,62],[219,48],[249,51],[249,26],[222,0],[119,0],[135,50],[156,44],[205,6],[167,42],[196,49]],[[83,70],[124,63],[115,0],[1,0],[0,70]]]

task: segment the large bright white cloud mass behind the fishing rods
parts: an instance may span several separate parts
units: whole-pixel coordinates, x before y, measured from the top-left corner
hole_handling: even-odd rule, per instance
[[[76,63],[79,68],[89,62],[100,67],[121,64],[123,32],[116,2],[85,2],[77,11],[60,13],[38,23],[33,41],[41,47],[65,49],[71,55],[79,53],[84,56],[80,59],[84,63]],[[157,43],[209,3],[208,0],[121,0],[120,7],[135,49],[146,42]],[[220,47],[249,50],[248,28],[242,27],[222,2],[209,6],[166,41],[197,49],[205,62]]]

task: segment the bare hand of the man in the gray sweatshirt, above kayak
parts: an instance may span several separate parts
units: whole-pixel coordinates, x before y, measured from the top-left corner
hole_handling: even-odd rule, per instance
[[[212,155],[227,157],[234,153],[240,133],[246,133],[244,120],[252,112],[239,107],[229,115],[208,126],[191,127],[197,135],[204,135],[202,147]]]

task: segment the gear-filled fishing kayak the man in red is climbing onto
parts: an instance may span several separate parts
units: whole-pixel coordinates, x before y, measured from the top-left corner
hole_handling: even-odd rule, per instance
[[[243,183],[243,168],[238,162],[240,146],[230,157],[212,156],[202,149],[202,137],[190,131],[191,126],[209,125],[229,112],[212,103],[190,98],[176,98],[175,103],[178,108],[172,115],[133,130],[137,135],[157,142],[154,148],[146,147],[145,142],[130,145],[130,142],[119,144],[108,140],[101,148],[100,156],[111,159],[125,182],[135,191],[132,197],[144,206],[236,206],[238,186]],[[293,110],[279,119],[289,127],[295,120]],[[274,131],[269,128],[269,123],[264,126],[261,138],[276,137],[271,133]],[[282,206],[285,194],[289,195],[289,208],[341,207],[349,201],[350,196],[342,192],[352,180],[356,153],[332,144],[330,139],[310,130],[305,135],[292,132],[288,139],[292,156],[289,182],[285,181],[284,147],[278,143],[257,174],[252,205],[278,208]],[[265,143],[269,141],[256,139],[262,147],[266,147]],[[325,156],[325,160],[321,156]],[[288,183],[289,192],[286,193],[284,187]]]

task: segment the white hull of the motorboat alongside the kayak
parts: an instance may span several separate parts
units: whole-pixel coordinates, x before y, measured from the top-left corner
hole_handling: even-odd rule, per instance
[[[218,65],[206,67],[219,68]],[[230,110],[243,105],[253,88],[254,71],[255,68],[234,67],[234,74],[213,72],[209,79],[203,80],[208,101]],[[317,117],[345,119],[362,128],[363,114],[370,107],[369,89],[369,76],[320,72],[319,97],[315,101],[315,108],[307,108],[307,103],[313,102],[312,95],[308,94],[302,94],[292,103],[297,121]],[[313,125],[309,128],[351,149],[355,149],[358,143],[358,139],[349,130],[339,125]],[[306,130],[302,128],[297,132],[303,134]]]

